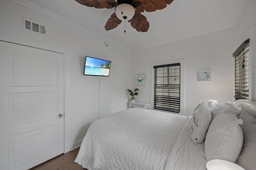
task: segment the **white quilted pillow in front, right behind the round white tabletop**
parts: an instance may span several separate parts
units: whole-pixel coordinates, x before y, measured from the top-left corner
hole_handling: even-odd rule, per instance
[[[236,162],[242,146],[243,121],[232,113],[217,115],[212,120],[205,137],[206,160],[223,159]]]

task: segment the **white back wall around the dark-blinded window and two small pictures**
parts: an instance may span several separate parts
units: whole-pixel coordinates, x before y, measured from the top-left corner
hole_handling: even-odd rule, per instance
[[[151,64],[160,61],[184,59],[184,115],[192,115],[203,101],[214,99],[219,103],[233,101],[232,42],[228,32],[197,36],[132,52],[132,79],[146,74],[146,85],[139,88],[137,101],[150,102]],[[197,71],[212,70],[212,81],[197,81]],[[132,83],[135,87],[135,83]]]

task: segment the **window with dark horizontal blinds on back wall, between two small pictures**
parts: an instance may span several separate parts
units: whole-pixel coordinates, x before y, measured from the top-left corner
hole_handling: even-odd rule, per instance
[[[154,109],[180,112],[180,63],[154,66]]]

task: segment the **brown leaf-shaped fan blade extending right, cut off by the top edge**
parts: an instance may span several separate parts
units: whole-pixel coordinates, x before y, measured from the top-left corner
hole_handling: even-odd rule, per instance
[[[134,0],[134,2],[140,2],[140,6],[135,9],[140,12],[153,12],[156,10],[162,10],[167,5],[171,4],[174,0]]]

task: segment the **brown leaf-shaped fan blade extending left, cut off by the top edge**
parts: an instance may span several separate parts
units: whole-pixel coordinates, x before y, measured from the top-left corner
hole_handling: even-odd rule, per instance
[[[114,8],[114,6],[110,4],[116,4],[116,1],[114,0],[75,0],[75,1],[82,5],[95,7],[95,8]]]

